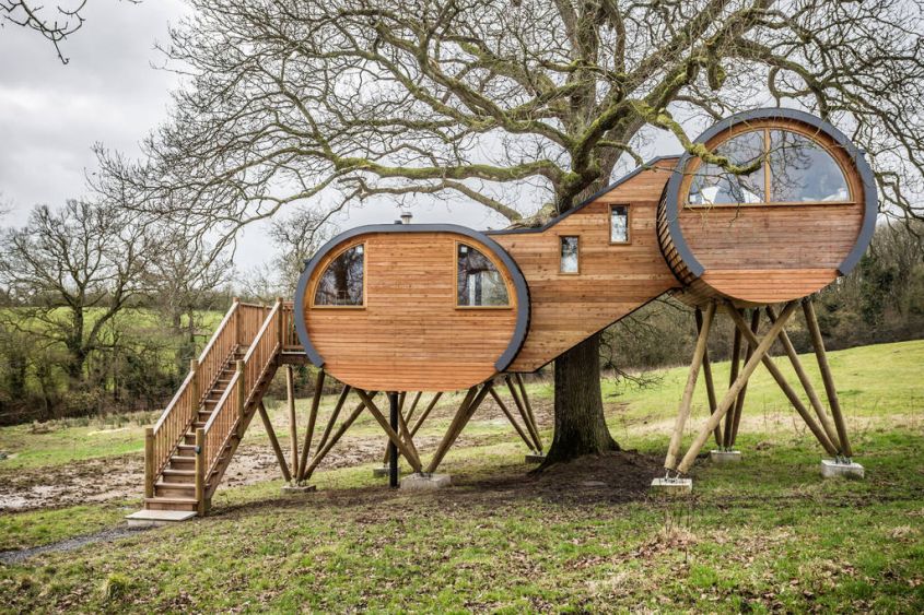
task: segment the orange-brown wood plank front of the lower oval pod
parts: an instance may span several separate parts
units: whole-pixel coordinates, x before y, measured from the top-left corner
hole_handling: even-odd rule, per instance
[[[516,295],[502,263],[510,308],[456,307],[456,241],[491,250],[452,233],[371,233],[354,237],[319,263],[365,244],[364,308],[308,308],[305,324],[325,369],[365,390],[454,391],[495,374],[494,362],[516,324]]]

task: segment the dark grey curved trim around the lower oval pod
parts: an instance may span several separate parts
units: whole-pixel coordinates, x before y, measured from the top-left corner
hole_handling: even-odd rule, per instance
[[[506,369],[516,354],[523,346],[526,340],[526,333],[529,330],[529,286],[526,284],[526,279],[523,272],[511,256],[504,250],[500,244],[488,237],[480,230],[468,228],[467,226],[459,226],[456,224],[371,224],[365,226],[358,226],[349,230],[344,230],[340,235],[334,237],[330,241],[325,244],[315,255],[305,263],[305,269],[299,277],[299,286],[295,288],[295,331],[299,334],[299,340],[305,347],[305,354],[308,359],[316,367],[324,367],[324,357],[317,352],[312,340],[308,336],[308,330],[305,327],[305,294],[308,288],[308,281],[312,277],[315,269],[321,259],[330,253],[338,246],[360,235],[367,235],[372,233],[454,233],[464,237],[469,237],[476,241],[480,241],[487,246],[495,257],[498,257],[504,267],[510,271],[513,279],[514,289],[516,291],[516,326],[514,328],[513,336],[506,350],[501,354],[500,358],[494,363],[494,368],[498,371]]]

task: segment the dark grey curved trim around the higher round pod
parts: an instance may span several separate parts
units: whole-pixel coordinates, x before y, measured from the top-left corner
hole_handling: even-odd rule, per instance
[[[695,143],[705,143],[716,134],[725,132],[737,123],[762,119],[791,119],[816,128],[833,139],[838,145],[844,149],[853,161],[854,166],[859,174],[861,181],[863,182],[863,200],[865,206],[859,237],[857,237],[853,249],[838,267],[839,273],[841,275],[846,275],[854,267],[856,267],[856,263],[859,262],[861,257],[863,257],[866,248],[873,240],[873,234],[876,230],[876,216],[879,213],[879,199],[876,192],[876,181],[863,151],[854,145],[843,132],[823,119],[806,111],[787,108],[763,108],[735,114],[734,116],[729,116],[713,125],[712,128],[707,129],[697,138]],[[667,182],[665,206],[667,208],[667,228],[670,234],[670,240],[674,243],[674,247],[677,248],[677,252],[683,260],[683,264],[686,264],[687,269],[690,270],[690,273],[700,277],[705,272],[705,268],[703,268],[700,261],[697,260],[693,252],[690,250],[689,245],[687,245],[687,240],[683,238],[683,232],[680,229],[679,215],[680,184],[683,179],[683,169],[687,167],[687,163],[689,163],[693,155],[687,152],[677,163],[675,174]]]

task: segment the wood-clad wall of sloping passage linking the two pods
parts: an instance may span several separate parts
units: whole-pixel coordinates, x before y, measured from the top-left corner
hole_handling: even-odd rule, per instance
[[[535,371],[679,286],[660,252],[656,208],[676,158],[658,161],[540,233],[491,235],[529,285],[529,334],[511,371]],[[629,244],[609,243],[610,204],[629,205]],[[559,273],[560,236],[581,237],[580,273]]]

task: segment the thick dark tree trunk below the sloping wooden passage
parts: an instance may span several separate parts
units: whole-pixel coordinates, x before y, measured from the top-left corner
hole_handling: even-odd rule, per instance
[[[600,334],[596,333],[555,359],[555,434],[539,470],[584,454],[619,450],[604,417],[599,350]]]

